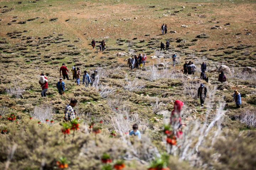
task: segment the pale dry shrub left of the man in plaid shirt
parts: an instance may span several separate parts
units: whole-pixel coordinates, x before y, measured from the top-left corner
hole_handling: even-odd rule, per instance
[[[44,123],[46,119],[53,119],[54,110],[52,106],[41,104],[34,108],[34,112],[30,114],[33,119],[40,120],[41,123]]]

